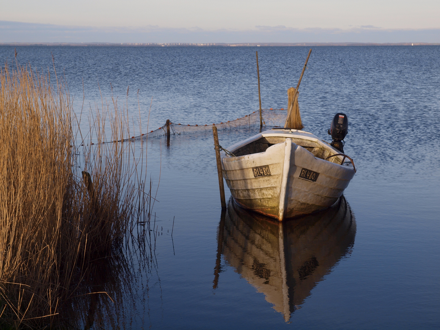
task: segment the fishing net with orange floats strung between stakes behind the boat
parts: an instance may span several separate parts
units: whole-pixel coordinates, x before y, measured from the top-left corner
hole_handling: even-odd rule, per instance
[[[287,117],[287,109],[262,109],[263,128],[269,129],[272,127],[283,127]],[[252,114],[248,114],[244,117],[237,118],[235,120],[215,123],[215,124],[182,124],[174,123],[172,121],[165,125],[150,131],[148,133],[141,134],[139,136],[132,136],[132,139],[145,139],[145,138],[157,138],[167,135],[167,125],[169,125],[170,135],[181,134],[197,134],[197,133],[210,133],[213,132],[213,125],[216,125],[219,132],[224,130],[232,130],[235,128],[259,128],[260,127],[260,113],[254,111]]]

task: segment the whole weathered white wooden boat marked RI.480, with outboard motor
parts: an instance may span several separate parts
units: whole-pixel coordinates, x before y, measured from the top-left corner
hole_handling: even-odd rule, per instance
[[[340,150],[312,133],[274,128],[227,148],[223,177],[238,205],[282,221],[325,209],[341,197],[356,168]]]

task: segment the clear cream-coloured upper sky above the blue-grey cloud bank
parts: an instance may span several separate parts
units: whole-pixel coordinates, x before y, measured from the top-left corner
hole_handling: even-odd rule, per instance
[[[0,20],[75,26],[440,28],[439,0],[1,0]]]

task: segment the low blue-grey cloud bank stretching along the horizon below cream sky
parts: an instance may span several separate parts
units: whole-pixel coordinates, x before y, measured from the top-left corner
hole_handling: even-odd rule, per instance
[[[60,26],[0,21],[0,43],[440,43],[440,29],[255,26],[253,29]]]

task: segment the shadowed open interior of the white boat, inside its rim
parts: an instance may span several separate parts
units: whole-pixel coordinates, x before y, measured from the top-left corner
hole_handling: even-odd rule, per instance
[[[292,137],[291,139],[293,143],[296,143],[298,146],[301,146],[304,149],[308,150],[316,158],[321,158],[336,164],[341,164],[341,160],[338,157],[332,157],[330,159],[326,159],[331,155],[337,154],[337,152],[332,150],[330,147],[325,148],[321,144],[308,139],[299,139],[294,137]],[[237,150],[234,150],[232,152],[236,157],[249,155],[249,154],[258,154],[260,152],[266,151],[268,147],[271,147],[277,143],[282,143],[284,141],[286,141],[286,136],[265,136],[265,137],[261,137],[256,141],[250,142],[244,145],[243,147],[238,148]]]

